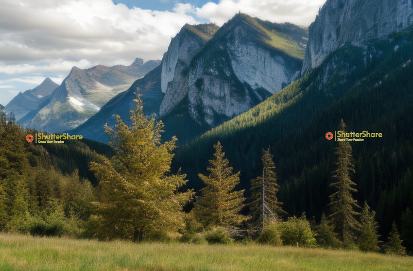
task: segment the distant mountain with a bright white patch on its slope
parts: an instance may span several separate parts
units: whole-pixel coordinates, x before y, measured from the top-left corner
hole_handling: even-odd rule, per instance
[[[62,85],[18,123],[53,133],[73,129],[159,63],[159,60],[143,63],[142,59],[136,59],[131,66],[73,67]]]

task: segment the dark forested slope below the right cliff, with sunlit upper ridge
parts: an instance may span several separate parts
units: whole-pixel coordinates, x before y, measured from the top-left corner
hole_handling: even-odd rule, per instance
[[[335,18],[349,11],[347,5],[356,9],[360,6],[354,2],[362,1],[343,2],[342,8],[331,10],[335,2],[327,1],[313,25],[325,15],[325,27],[334,28]],[[376,9],[381,12],[382,6],[369,12],[380,14]],[[359,19],[349,17],[346,24],[356,27]],[[324,33],[313,25],[309,40]],[[393,31],[363,39],[362,46],[345,43],[269,99],[179,147],[172,171],[182,168],[187,185],[199,189],[197,175],[206,173],[212,145],[219,140],[234,171],[241,170],[239,189],[246,188],[248,194],[249,181],[262,172],[261,150],[270,146],[284,210],[319,220],[328,210],[328,185],[336,169],[337,142],[325,135],[334,134],[344,119],[349,132],[382,133],[381,138],[351,142],[356,165],[352,181],[358,189],[354,196],[376,211],[384,238],[396,220],[404,245],[413,251],[408,234],[413,226],[413,27],[400,31],[395,25]]]

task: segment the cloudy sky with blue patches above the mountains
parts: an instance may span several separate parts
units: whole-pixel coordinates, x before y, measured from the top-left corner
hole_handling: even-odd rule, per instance
[[[309,26],[326,0],[1,0],[0,104],[73,66],[162,59],[186,23],[224,22],[242,12]]]

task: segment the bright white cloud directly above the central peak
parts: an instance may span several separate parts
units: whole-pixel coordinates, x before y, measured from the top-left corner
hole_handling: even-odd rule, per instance
[[[196,9],[196,15],[218,25],[242,12],[272,22],[291,22],[309,26],[326,0],[221,0]]]

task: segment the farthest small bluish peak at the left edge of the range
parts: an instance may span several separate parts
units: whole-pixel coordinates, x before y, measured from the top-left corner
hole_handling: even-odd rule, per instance
[[[4,110],[8,113],[13,112],[16,120],[19,120],[30,111],[35,110],[58,86],[48,77],[34,89],[26,90],[23,93],[19,92],[5,106]]]

